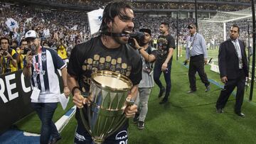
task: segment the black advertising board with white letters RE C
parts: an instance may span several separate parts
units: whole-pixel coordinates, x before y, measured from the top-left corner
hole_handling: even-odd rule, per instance
[[[63,81],[57,74],[63,92]],[[33,111],[31,93],[30,79],[24,78],[22,70],[0,75],[0,135]]]

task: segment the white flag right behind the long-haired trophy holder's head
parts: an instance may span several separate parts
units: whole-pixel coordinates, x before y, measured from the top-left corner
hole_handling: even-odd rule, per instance
[[[97,9],[87,13],[91,35],[97,33],[97,31],[100,30],[100,25],[102,23],[103,10],[104,9]]]

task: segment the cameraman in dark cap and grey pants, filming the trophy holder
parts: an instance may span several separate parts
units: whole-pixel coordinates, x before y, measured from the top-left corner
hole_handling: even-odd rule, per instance
[[[156,60],[153,48],[149,45],[151,41],[151,31],[148,28],[142,28],[139,30],[144,33],[144,39],[137,43],[134,38],[135,46],[139,50],[142,57],[142,80],[139,82],[139,93],[135,104],[138,106],[138,113],[134,116],[134,122],[137,123],[139,130],[144,129],[144,121],[146,113],[148,111],[149,95],[151,94],[151,88],[154,87],[153,79],[153,62]]]

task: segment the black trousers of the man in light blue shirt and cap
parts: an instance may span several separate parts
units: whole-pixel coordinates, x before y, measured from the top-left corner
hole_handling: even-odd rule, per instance
[[[208,85],[210,85],[210,82],[208,81],[206,72],[204,71],[203,55],[191,57],[191,60],[189,62],[188,79],[190,88],[193,91],[196,91],[196,72],[198,72],[199,77],[201,78],[203,84],[205,84],[205,86],[208,87]]]

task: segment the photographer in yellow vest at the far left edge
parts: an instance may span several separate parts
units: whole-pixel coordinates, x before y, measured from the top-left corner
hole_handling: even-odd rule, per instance
[[[9,39],[6,37],[0,38],[1,50],[0,50],[0,63],[1,74],[8,72],[14,72],[17,70],[16,52],[9,45]]]

